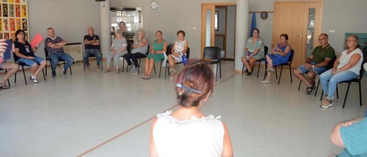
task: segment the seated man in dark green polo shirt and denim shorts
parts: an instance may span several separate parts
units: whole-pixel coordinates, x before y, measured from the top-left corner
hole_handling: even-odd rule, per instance
[[[316,75],[333,67],[332,63],[336,58],[334,48],[328,43],[327,34],[320,34],[319,42],[321,45],[313,49],[305,64],[293,70],[293,75],[307,85],[306,94],[316,88]],[[307,74],[307,78],[303,74]]]

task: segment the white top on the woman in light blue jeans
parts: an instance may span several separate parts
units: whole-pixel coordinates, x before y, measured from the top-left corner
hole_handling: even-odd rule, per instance
[[[361,49],[359,48],[356,48],[356,50],[353,50],[352,52],[350,52],[350,54],[346,54],[346,51],[347,50],[344,50],[342,52],[342,56],[340,57],[339,59],[339,65],[338,65],[338,69],[345,66],[346,64],[349,63],[349,60],[350,60],[350,57],[354,54],[359,54],[361,55],[361,58],[359,59],[359,61],[357,62],[356,65],[354,65],[353,67],[351,67],[350,69],[348,69],[348,71],[350,72],[353,72],[353,73],[356,73],[358,76],[359,76],[359,71],[361,70],[361,66],[362,66],[362,62],[363,62],[363,54],[362,54],[362,51]]]

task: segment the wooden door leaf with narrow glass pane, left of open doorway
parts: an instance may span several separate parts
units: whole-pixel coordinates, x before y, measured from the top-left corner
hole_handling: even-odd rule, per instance
[[[201,59],[204,47],[214,46],[214,14],[214,4],[201,4]]]

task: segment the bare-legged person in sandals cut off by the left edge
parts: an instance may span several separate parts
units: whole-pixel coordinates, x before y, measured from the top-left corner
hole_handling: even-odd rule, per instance
[[[0,70],[8,70],[3,79],[0,81],[0,91],[9,89],[8,86],[5,85],[5,81],[8,80],[11,76],[13,76],[19,69],[19,65],[14,62],[7,62],[3,60],[4,52],[7,49],[7,43],[5,43],[6,39],[0,39]],[[14,51],[14,44],[13,51]]]

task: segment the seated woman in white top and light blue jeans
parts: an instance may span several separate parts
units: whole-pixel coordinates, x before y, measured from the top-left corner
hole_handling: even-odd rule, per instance
[[[322,88],[327,98],[321,102],[320,107],[328,108],[333,106],[331,101],[337,84],[342,81],[349,81],[359,77],[362,67],[363,54],[360,49],[358,37],[354,34],[348,36],[346,40],[347,50],[344,50],[334,62],[333,69],[327,70],[320,75]]]

